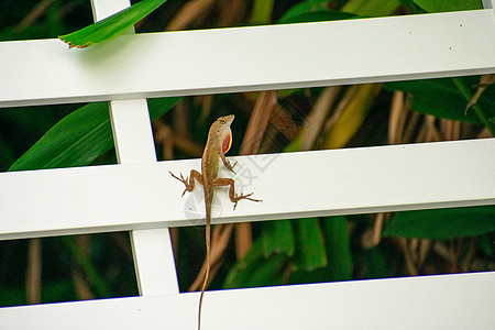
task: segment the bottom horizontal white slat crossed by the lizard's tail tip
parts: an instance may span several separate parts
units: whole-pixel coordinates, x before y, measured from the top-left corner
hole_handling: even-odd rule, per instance
[[[201,329],[495,329],[495,273],[208,292]],[[198,294],[0,308],[4,329],[196,329]],[[324,326],[323,326],[324,324]]]

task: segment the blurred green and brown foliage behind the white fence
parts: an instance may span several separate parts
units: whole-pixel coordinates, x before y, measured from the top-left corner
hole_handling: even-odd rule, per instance
[[[297,23],[480,6],[480,1],[427,2],[211,0],[198,6],[168,0],[136,30]],[[87,0],[2,4],[9,8],[0,12],[2,41],[56,37],[91,23]],[[261,152],[492,136],[494,87],[488,86],[466,111],[479,81],[480,77],[463,77],[278,91]],[[226,113],[237,116],[231,152],[237,154],[262,95],[148,100],[158,157],[199,157],[209,124]],[[0,109],[0,170],[114,164],[112,144],[106,103]],[[237,254],[239,243],[232,241],[211,287],[493,271],[494,215],[494,207],[476,207],[251,223],[248,252]],[[173,238],[179,285],[186,290],[205,255],[204,229],[182,228],[173,231]],[[26,287],[32,287],[30,273],[36,267],[42,273],[36,285],[43,302],[138,294],[128,233],[41,239],[41,261],[34,256],[33,242],[0,242],[0,306],[35,302],[26,298],[33,290]]]

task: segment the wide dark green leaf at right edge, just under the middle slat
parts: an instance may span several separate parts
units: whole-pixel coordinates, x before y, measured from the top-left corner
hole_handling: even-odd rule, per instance
[[[384,237],[446,240],[495,231],[495,206],[397,212]]]

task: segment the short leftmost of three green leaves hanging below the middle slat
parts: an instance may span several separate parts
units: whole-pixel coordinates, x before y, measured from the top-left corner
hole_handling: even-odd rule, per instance
[[[267,221],[263,223],[263,255],[268,257],[274,253],[294,255],[296,239],[290,220]]]

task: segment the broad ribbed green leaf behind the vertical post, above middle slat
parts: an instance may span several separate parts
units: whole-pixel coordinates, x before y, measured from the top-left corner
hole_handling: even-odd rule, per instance
[[[151,119],[167,112],[179,100],[148,100]],[[112,147],[108,103],[89,103],[57,122],[9,170],[85,166]]]

